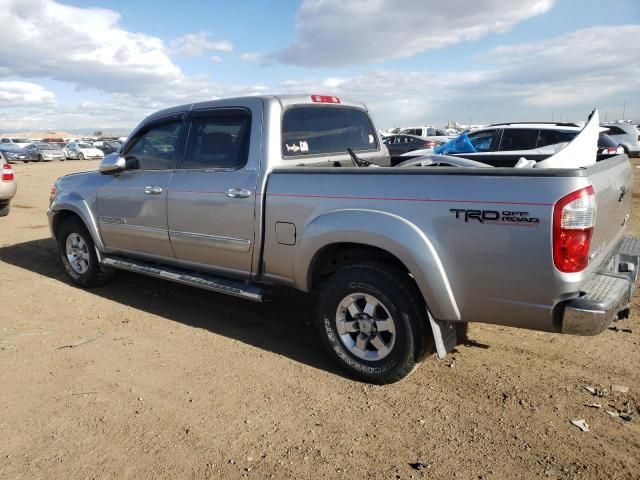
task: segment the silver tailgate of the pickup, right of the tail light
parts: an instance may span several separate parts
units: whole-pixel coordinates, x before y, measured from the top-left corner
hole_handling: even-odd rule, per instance
[[[589,251],[589,258],[595,259],[613,247],[627,224],[633,168],[626,155],[618,155],[589,167],[588,175],[596,195],[596,222]]]

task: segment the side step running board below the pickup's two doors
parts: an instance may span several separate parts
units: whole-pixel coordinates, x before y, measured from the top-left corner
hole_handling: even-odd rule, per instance
[[[150,277],[163,278],[172,282],[190,285],[192,287],[204,288],[212,292],[233,295],[254,302],[265,301],[265,292],[255,285],[247,284],[241,280],[231,280],[217,277],[205,273],[195,273],[177,268],[158,267],[155,264],[145,263],[139,260],[130,260],[120,257],[103,257],[102,265],[128,270],[129,272],[142,273]]]

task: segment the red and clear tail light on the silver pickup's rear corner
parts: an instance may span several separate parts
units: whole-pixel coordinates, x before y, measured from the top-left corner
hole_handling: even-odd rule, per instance
[[[596,220],[596,198],[589,186],[562,197],[553,207],[553,264],[561,272],[580,272],[589,264]]]

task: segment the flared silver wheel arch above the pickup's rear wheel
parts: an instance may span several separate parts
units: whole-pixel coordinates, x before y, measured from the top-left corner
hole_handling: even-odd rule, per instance
[[[345,258],[346,257],[346,258]],[[431,241],[416,225],[376,210],[344,209],[316,217],[300,234],[294,284],[317,287],[323,275],[360,260],[384,261],[410,274],[432,314],[460,320],[446,272]],[[337,265],[329,265],[335,262]]]

